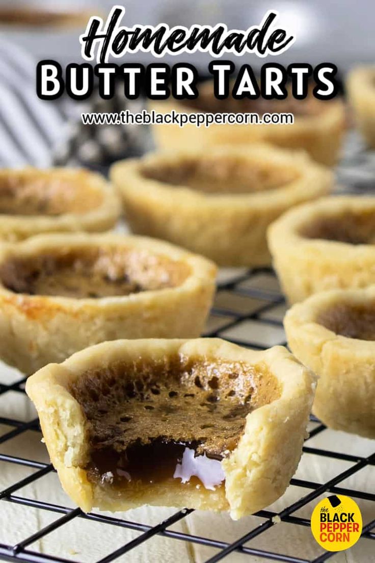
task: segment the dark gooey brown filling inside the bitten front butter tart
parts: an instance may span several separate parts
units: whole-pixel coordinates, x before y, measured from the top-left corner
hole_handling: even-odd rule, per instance
[[[265,365],[175,355],[91,370],[71,387],[88,421],[88,479],[124,488],[172,482],[186,448],[222,460],[246,416],[280,394]],[[201,484],[191,476],[186,486]]]

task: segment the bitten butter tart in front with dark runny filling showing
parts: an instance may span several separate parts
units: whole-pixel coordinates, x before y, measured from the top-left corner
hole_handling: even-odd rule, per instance
[[[28,379],[44,440],[84,511],[229,511],[280,497],[296,471],[314,376],[283,347],[119,340]]]

